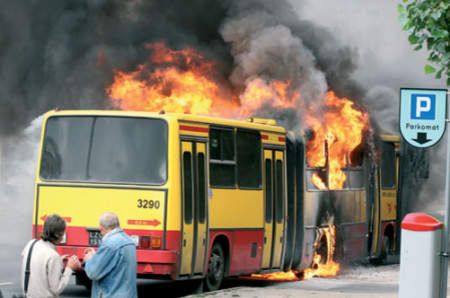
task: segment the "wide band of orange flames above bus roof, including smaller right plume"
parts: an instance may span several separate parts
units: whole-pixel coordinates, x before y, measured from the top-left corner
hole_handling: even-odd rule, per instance
[[[106,89],[122,110],[161,111],[249,117],[262,107],[293,108],[300,99],[289,81],[250,80],[240,96],[221,82],[217,65],[196,50],[172,50],[163,42],[147,44],[148,61],[135,70],[116,70]]]

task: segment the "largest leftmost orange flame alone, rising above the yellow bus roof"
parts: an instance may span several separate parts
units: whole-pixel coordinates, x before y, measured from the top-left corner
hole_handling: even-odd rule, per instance
[[[194,49],[171,50],[164,43],[148,44],[146,64],[131,72],[116,71],[107,93],[122,110],[190,114],[226,114],[236,100],[211,79],[216,66]]]

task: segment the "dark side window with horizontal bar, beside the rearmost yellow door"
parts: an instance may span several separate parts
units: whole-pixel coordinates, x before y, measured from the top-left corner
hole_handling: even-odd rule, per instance
[[[236,187],[233,130],[211,128],[209,144],[211,186]]]

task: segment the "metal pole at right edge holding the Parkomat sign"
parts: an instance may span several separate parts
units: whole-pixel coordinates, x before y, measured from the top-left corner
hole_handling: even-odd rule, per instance
[[[447,92],[448,94],[448,92]],[[447,115],[449,107],[447,102]],[[447,119],[445,121],[449,123],[450,120]],[[442,240],[442,251],[441,251],[441,282],[440,282],[440,297],[447,297],[447,273],[448,273],[448,226],[450,225],[450,191],[449,191],[449,176],[450,176],[450,129],[447,129],[447,160],[446,160],[446,169],[445,169],[445,221],[444,221],[444,237]]]

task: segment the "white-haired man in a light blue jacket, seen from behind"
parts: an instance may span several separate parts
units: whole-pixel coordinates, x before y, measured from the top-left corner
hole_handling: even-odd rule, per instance
[[[102,242],[97,250],[88,248],[84,255],[84,270],[92,280],[91,297],[137,298],[136,247],[122,231],[119,218],[112,212],[100,217]]]

